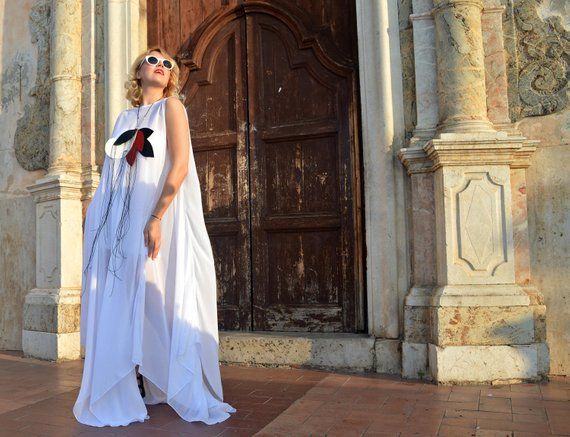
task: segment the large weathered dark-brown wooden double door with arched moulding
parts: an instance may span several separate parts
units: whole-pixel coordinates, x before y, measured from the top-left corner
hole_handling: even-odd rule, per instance
[[[364,326],[349,0],[148,2],[181,84],[222,329]]]

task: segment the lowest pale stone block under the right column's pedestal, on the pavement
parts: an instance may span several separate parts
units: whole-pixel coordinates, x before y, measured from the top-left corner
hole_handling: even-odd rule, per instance
[[[545,343],[518,346],[428,346],[431,376],[440,384],[537,381],[548,372]]]

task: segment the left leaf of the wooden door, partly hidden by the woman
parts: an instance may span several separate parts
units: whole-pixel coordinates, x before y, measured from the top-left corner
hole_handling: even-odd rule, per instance
[[[251,326],[244,32],[243,20],[224,27],[182,90],[216,263],[219,324],[241,330]]]

